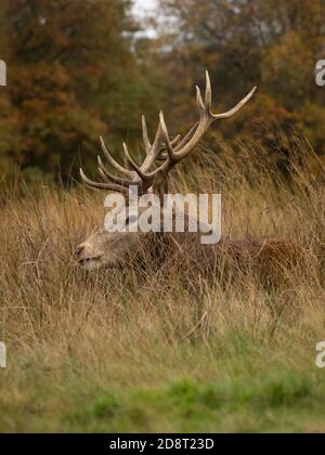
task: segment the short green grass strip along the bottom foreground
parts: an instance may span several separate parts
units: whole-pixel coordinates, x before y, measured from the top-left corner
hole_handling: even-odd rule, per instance
[[[166,362],[131,362],[130,376],[140,370],[143,385],[127,377],[117,384],[114,366],[92,384],[91,368],[82,377],[73,360],[62,370],[25,360],[14,391],[10,369],[1,380],[0,430],[323,432],[325,370],[314,366],[314,352],[297,356],[289,346],[257,347],[243,336],[210,344],[207,352],[202,346],[190,352],[187,344]]]

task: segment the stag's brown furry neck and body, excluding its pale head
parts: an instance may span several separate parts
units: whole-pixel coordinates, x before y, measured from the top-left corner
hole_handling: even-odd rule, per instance
[[[290,270],[307,266],[306,258],[304,248],[290,240],[223,239],[202,245],[199,234],[153,234],[132,265],[168,270],[172,264],[191,280],[232,280],[251,273],[265,285],[277,285],[287,280]]]

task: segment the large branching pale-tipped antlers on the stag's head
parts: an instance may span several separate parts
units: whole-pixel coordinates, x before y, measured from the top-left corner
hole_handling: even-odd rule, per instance
[[[205,101],[203,100],[200,89],[196,87],[196,100],[199,112],[199,121],[196,122],[191,130],[182,139],[178,135],[174,140],[170,140],[168,129],[166,126],[164,113],[159,115],[159,126],[156,132],[155,141],[152,144],[147,133],[145,117],[142,117],[143,143],[146,153],[146,158],[141,166],[130,156],[128,146],[123,144],[123,152],[126,159],[132,170],[120,166],[109,154],[101,138],[102,148],[109,165],[123,177],[117,177],[107,171],[99,157],[99,172],[103,180],[102,183],[93,182],[88,179],[80,169],[81,179],[83,182],[96,190],[106,190],[120,193],[129,193],[129,186],[135,185],[139,187],[141,194],[147,192],[153,185],[159,173],[168,176],[171,169],[184,159],[196,147],[202,138],[205,135],[209,127],[216,121],[230,118],[235,115],[242,107],[251,99],[257,88],[255,87],[235,107],[223,114],[212,113],[212,91],[209,73],[206,72],[206,93]],[[155,167],[157,161],[162,164]],[[155,167],[155,168],[154,168]]]

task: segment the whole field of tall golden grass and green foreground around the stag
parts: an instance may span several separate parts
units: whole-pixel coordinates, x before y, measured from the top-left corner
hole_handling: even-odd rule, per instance
[[[225,235],[303,245],[306,273],[272,289],[239,272],[193,288],[86,274],[72,257],[103,222],[102,195],[1,183],[1,432],[325,431],[324,185],[301,162],[288,184],[253,160],[229,157],[222,178],[208,161],[174,186],[221,191]]]

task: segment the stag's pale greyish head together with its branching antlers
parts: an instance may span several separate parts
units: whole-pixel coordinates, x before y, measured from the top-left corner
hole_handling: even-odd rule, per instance
[[[196,87],[196,99],[199,112],[199,120],[184,135],[178,135],[170,139],[165,122],[162,112],[159,115],[159,126],[154,142],[152,143],[148,133],[145,117],[142,117],[143,144],[146,157],[141,166],[130,156],[128,146],[123,144],[123,153],[129,169],[117,162],[101,138],[103,153],[107,162],[118,174],[112,173],[104,166],[101,157],[99,160],[99,174],[101,182],[90,180],[82,169],[80,176],[82,181],[90,187],[105,192],[121,193],[129,197],[129,188],[136,187],[139,195],[157,194],[161,196],[168,192],[168,178],[170,171],[199,143],[206,131],[216,120],[222,120],[232,117],[251,99],[256,88],[248,93],[235,107],[223,114],[212,113],[212,93],[211,82],[208,72],[206,72],[206,92],[203,100],[200,89]],[[161,199],[161,197],[160,197]],[[127,220],[127,227],[132,227],[132,223],[138,220],[130,218]],[[122,266],[132,262],[135,256],[152,240],[153,235],[141,232],[107,232],[99,230],[93,233],[88,240],[81,244],[76,250],[76,259],[86,270],[99,269],[103,265],[109,268]],[[157,238],[155,238],[157,240]]]

